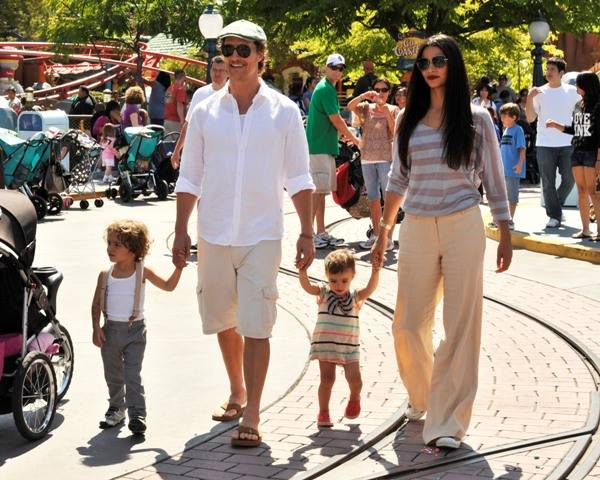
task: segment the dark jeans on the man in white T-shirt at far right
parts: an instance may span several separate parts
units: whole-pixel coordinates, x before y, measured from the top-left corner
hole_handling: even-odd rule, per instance
[[[571,170],[573,147],[537,147],[536,152],[546,215],[560,222],[562,206],[575,184]],[[561,177],[558,189],[556,188],[556,169]]]

